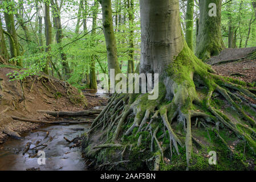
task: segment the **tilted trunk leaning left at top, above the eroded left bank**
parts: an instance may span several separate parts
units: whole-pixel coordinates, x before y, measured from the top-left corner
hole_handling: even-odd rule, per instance
[[[64,53],[63,47],[62,47],[63,33],[62,33],[62,22],[60,19],[60,7],[58,5],[58,1],[55,0],[54,2],[54,0],[51,0],[51,6],[52,6],[54,28],[56,30],[56,42],[60,52],[60,57],[62,58],[61,63],[63,67],[64,78],[67,80],[68,78],[70,78],[71,70],[70,70],[70,66],[68,65],[66,53]]]

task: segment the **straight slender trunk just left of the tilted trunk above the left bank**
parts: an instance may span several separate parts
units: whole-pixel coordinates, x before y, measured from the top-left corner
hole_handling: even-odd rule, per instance
[[[50,5],[45,3],[45,14],[44,24],[45,24],[45,34],[46,34],[46,50],[47,58],[46,64],[43,68],[43,72],[48,75],[48,67],[51,62],[51,43],[52,43],[52,27],[51,27],[51,18],[50,18]]]

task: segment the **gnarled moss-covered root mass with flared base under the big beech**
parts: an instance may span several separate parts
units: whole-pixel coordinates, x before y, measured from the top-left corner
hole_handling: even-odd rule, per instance
[[[189,63],[187,59],[190,59]],[[84,143],[87,156],[97,156],[100,164],[105,163],[104,159],[111,159],[106,152],[100,151],[112,147],[119,151],[119,161],[132,161],[135,156],[149,169],[158,170],[166,160],[172,162],[174,155],[181,156],[184,148],[189,169],[193,143],[200,146],[192,136],[192,122],[195,122],[194,126],[204,126],[207,132],[212,130],[227,147],[219,132],[228,129],[244,139],[253,152],[256,151],[255,119],[241,107],[241,102],[250,106],[250,100],[256,101],[256,90],[245,82],[215,75],[208,65],[186,49],[176,60],[166,71],[168,76],[159,84],[157,100],[148,100],[148,94],[114,94],[109,99],[87,133]],[[200,92],[201,88],[205,94]],[[213,94],[226,100],[240,119],[234,121],[217,109]],[[182,126],[184,134],[178,132],[177,125]],[[95,135],[100,135],[97,138],[101,140],[99,146],[94,143]]]

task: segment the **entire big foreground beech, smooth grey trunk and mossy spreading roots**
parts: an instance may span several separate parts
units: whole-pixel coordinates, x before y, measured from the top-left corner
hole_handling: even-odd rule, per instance
[[[205,0],[204,0],[205,1]],[[101,4],[105,6],[103,3]],[[106,10],[106,9],[105,9]],[[213,92],[220,93],[226,98],[227,102],[234,106],[234,108],[246,118],[246,121],[250,123],[250,126],[255,127],[256,121],[250,118],[231,98],[231,90],[241,90],[251,98],[256,98],[255,94],[249,92],[247,89],[242,88],[241,85],[232,84],[229,79],[214,74],[213,69],[204,64],[198,59],[191,49],[186,44],[184,36],[181,31],[180,12],[179,12],[178,0],[140,0],[140,17],[141,17],[141,61],[140,61],[140,73],[158,73],[159,82],[156,82],[153,92],[159,89],[159,95],[155,99],[149,98],[150,93],[147,94],[113,94],[108,102],[108,105],[101,111],[94,122],[91,125],[90,130],[87,132],[87,144],[85,148],[85,154],[88,154],[90,158],[98,159],[98,163],[105,163],[105,160],[97,158],[97,154],[93,154],[91,149],[95,146],[95,141],[92,138],[92,133],[99,133],[103,131],[101,137],[106,136],[105,144],[124,142],[124,137],[135,137],[135,146],[140,146],[141,143],[145,144],[145,151],[154,152],[153,162],[155,164],[149,164],[149,168],[152,166],[155,169],[160,169],[160,161],[164,163],[164,155],[166,152],[170,152],[170,156],[173,155],[173,150],[176,150],[176,157],[181,155],[179,152],[180,147],[185,146],[186,150],[186,163],[187,169],[192,164],[192,129],[196,130],[196,127],[192,127],[193,117],[202,117],[206,119],[212,119],[218,125],[219,122],[224,123],[225,126],[233,130],[237,137],[245,137],[246,141],[250,143],[250,146],[256,150],[255,142],[247,132],[237,129],[239,124],[231,123],[227,115],[221,114],[220,111],[211,106],[211,98]],[[103,10],[103,14],[105,12]],[[107,40],[106,40],[107,41]],[[155,75],[156,76],[156,75]],[[154,79],[155,80],[155,79]],[[237,81],[237,80],[236,80]],[[196,86],[205,85],[208,89],[208,93],[204,98],[198,97]],[[246,85],[246,84],[245,84]],[[227,89],[230,88],[230,89]],[[156,91],[157,92],[157,91]],[[231,93],[229,95],[229,93]],[[201,113],[196,106],[203,106],[206,110],[209,110],[212,114]],[[120,107],[121,106],[121,107]],[[119,113],[119,109],[123,109],[120,114],[113,115],[113,113]],[[220,114],[218,114],[220,113]],[[131,115],[130,115],[131,114]],[[109,122],[108,115],[113,115],[113,122]],[[153,116],[152,116],[153,115]],[[134,118],[133,123],[130,123],[128,117]],[[155,119],[157,122],[155,122]],[[149,121],[150,120],[150,121]],[[147,124],[147,121],[149,123]],[[162,123],[161,123],[162,122]],[[185,141],[176,135],[177,129],[172,129],[173,123],[181,123],[186,133]],[[115,125],[115,127],[113,127]],[[169,134],[169,146],[161,145],[159,138],[156,134],[164,127],[168,130]],[[221,129],[221,127],[213,130]],[[244,127],[247,127],[243,125]],[[253,128],[248,126],[246,128],[253,131]],[[127,129],[127,127],[129,127]],[[136,132],[134,132],[137,129]],[[149,136],[152,137],[151,146],[148,142],[142,142],[143,136],[141,131],[148,131]],[[176,131],[175,131],[176,130]],[[111,133],[111,135],[110,135]],[[162,129],[162,133],[165,130]],[[140,137],[139,137],[140,136]],[[99,137],[100,138],[100,137]],[[179,145],[179,146],[178,146]],[[151,148],[148,150],[147,148]],[[113,148],[113,150],[115,150]],[[137,150],[137,147],[131,147],[130,151]],[[166,151],[168,150],[168,151]],[[115,150],[119,152],[119,150]],[[101,153],[100,155],[105,155]],[[146,157],[147,158],[147,157]],[[177,157],[178,158],[178,157]],[[116,159],[108,159],[116,160]],[[143,162],[147,159],[138,159],[132,157],[132,160],[137,162]],[[147,160],[148,161],[148,160]],[[112,161],[111,161],[112,162]],[[173,164],[176,161],[173,162]],[[177,167],[180,167],[178,165]],[[134,169],[134,168],[133,168]],[[137,169],[135,167],[135,169]]]

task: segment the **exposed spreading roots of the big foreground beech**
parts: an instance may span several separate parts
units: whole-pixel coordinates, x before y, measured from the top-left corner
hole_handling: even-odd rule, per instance
[[[154,169],[160,169],[160,164],[164,163],[166,154],[170,154],[171,159],[174,151],[180,155],[180,147],[186,149],[186,163],[189,169],[192,142],[201,147],[200,142],[192,137],[192,118],[197,118],[194,126],[202,125],[207,131],[208,129],[214,131],[225,146],[229,147],[218,133],[223,127],[233,131],[238,138],[245,139],[251,149],[256,152],[255,119],[250,117],[240,105],[246,102],[254,107],[243,96],[244,94],[256,100],[256,95],[251,91],[250,86],[239,80],[214,75],[214,71],[208,65],[197,59],[194,60],[194,64],[197,66],[193,72],[185,74],[187,77],[178,77],[182,81],[173,81],[177,79],[176,76],[171,77],[173,80],[162,81],[159,85],[160,96],[157,100],[147,100],[148,94],[113,94],[108,105],[92,123],[87,142],[90,143],[92,133],[102,127],[101,138],[105,139],[105,143],[92,148],[125,146],[126,149],[127,143],[122,144],[125,137],[137,137],[136,146],[140,146],[143,143],[143,133],[147,132],[149,135],[147,138],[151,139],[148,148],[151,148],[151,152],[155,152],[153,153]],[[180,74],[184,74],[186,69],[181,72]],[[169,87],[166,88],[165,85]],[[203,85],[208,89],[208,93],[203,98],[198,97],[196,91],[198,85]],[[227,103],[241,116],[241,121],[231,121],[226,114],[213,106],[211,98],[214,92],[218,92],[221,97],[225,98]],[[200,109],[195,109],[196,107]],[[134,120],[127,119],[131,117]],[[182,124],[185,136],[177,136],[177,132],[172,128],[174,122]],[[160,137],[157,135],[159,132],[163,133]],[[163,138],[167,138],[169,144],[162,144]],[[131,145],[131,148],[135,147],[132,143],[128,145]],[[145,150],[148,150],[147,147]],[[231,151],[230,147],[229,150]],[[123,159],[124,152],[120,153]],[[147,159],[146,161],[148,164],[153,160]]]

